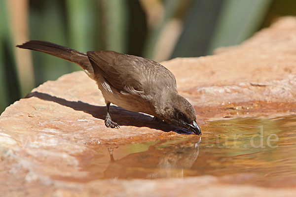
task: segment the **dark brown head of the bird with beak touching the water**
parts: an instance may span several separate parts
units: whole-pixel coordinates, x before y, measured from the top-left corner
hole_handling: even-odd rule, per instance
[[[162,118],[167,123],[201,135],[196,124],[196,113],[193,106],[179,94],[172,95],[170,102],[166,102],[162,111]]]

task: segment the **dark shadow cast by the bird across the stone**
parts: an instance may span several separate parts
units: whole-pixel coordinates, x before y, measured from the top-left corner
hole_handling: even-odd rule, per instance
[[[29,93],[25,99],[37,97],[42,100],[53,101],[61,105],[71,107],[76,111],[83,111],[92,115],[95,118],[105,120],[106,117],[106,106],[91,105],[81,101],[69,101],[66,99],[51,96],[46,93],[32,92]],[[110,114],[112,120],[119,126],[134,126],[134,127],[148,127],[150,129],[156,129],[161,131],[175,131],[183,134],[192,134],[191,131],[169,125],[165,122],[159,122],[153,120],[153,117],[139,112],[127,111],[118,106],[110,106]]]

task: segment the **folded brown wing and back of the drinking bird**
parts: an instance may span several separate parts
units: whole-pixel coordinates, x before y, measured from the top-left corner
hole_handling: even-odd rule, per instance
[[[163,87],[177,91],[173,73],[152,60],[114,51],[89,51],[87,56],[95,74],[102,75],[118,91],[148,93]]]

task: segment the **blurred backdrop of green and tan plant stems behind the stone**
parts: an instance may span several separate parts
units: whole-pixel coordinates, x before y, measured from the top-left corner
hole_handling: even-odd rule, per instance
[[[14,47],[27,40],[161,62],[210,55],[285,15],[296,15],[296,0],[0,0],[0,113],[43,82],[80,69]]]

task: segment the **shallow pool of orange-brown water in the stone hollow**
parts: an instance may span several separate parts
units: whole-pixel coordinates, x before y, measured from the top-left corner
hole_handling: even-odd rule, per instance
[[[82,164],[94,179],[212,175],[224,182],[296,186],[296,115],[208,122],[203,135],[94,147]]]

